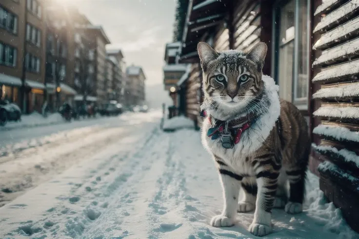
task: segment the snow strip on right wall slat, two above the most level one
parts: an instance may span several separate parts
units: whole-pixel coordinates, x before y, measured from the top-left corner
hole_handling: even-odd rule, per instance
[[[335,65],[327,69],[323,69],[321,72],[313,77],[313,82],[324,81],[328,79],[334,79],[339,77],[345,77],[349,75],[356,75],[359,73],[359,60],[353,60],[351,62],[345,62],[344,64]],[[356,77],[356,76],[355,76]]]

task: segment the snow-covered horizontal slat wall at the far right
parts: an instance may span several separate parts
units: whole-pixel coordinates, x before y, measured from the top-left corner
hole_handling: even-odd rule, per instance
[[[359,231],[359,0],[325,1],[314,13],[321,19],[313,33],[320,34],[313,49],[321,55],[312,82],[320,100],[313,116],[321,123],[313,134],[319,164],[320,189],[339,207],[351,227]]]

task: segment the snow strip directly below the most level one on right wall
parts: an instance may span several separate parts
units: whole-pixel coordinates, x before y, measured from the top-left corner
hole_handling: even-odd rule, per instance
[[[313,129],[313,133],[325,136],[331,136],[337,140],[347,140],[359,142],[359,132],[351,131],[344,127],[319,125]]]

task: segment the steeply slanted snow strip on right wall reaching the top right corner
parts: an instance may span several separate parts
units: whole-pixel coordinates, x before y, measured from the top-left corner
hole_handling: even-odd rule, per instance
[[[321,18],[321,21],[314,28],[314,33],[322,31],[326,26],[333,24],[339,19],[345,17],[351,12],[357,10],[359,7],[359,0],[350,0],[344,5],[341,5],[338,9],[334,10],[330,14],[326,15],[324,18]]]

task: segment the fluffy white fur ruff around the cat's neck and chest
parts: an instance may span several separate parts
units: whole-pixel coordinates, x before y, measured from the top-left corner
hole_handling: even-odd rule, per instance
[[[252,173],[251,169],[244,164],[245,158],[262,146],[280,114],[278,86],[275,85],[274,80],[269,76],[263,75],[263,81],[271,105],[266,113],[261,115],[250,128],[242,133],[239,143],[233,148],[225,149],[222,147],[220,138],[212,140],[211,137],[208,137],[207,130],[211,128],[211,123],[208,118],[203,121],[201,133],[203,146],[210,153],[219,156],[226,164],[231,165],[239,173]],[[210,114],[210,112],[207,113]]]

